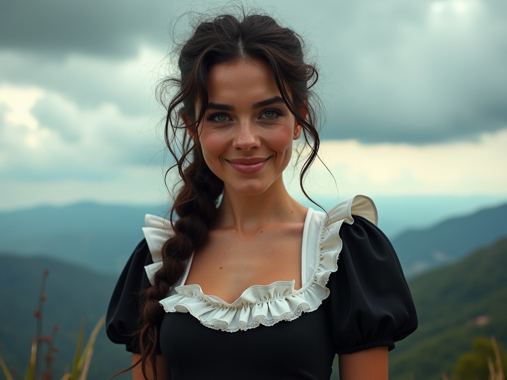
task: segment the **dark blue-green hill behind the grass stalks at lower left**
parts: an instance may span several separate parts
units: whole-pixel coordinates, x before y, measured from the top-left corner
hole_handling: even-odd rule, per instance
[[[33,313],[37,310],[45,269],[49,270],[49,276],[43,335],[50,335],[53,325],[59,325],[55,341],[58,361],[53,368],[56,378],[60,378],[65,363],[74,358],[82,318],[88,338],[95,323],[106,313],[117,276],[97,274],[52,258],[0,255],[0,345],[8,366],[15,366],[21,375],[30,356],[30,341],[36,335]],[[111,343],[102,328],[88,378],[110,378],[130,361],[125,348]],[[117,378],[125,380],[132,378],[132,374]]]

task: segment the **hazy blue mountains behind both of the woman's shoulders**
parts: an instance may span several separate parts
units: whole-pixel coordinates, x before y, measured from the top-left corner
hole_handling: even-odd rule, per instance
[[[1,250],[46,255],[118,275],[142,239],[144,214],[155,206],[81,203],[0,213]],[[507,235],[507,204],[389,237],[407,277],[453,262]]]

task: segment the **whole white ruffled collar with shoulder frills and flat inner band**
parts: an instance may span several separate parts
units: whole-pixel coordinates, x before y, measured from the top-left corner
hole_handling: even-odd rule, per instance
[[[199,285],[180,285],[171,289],[168,297],[160,300],[166,312],[190,313],[203,325],[234,332],[259,325],[271,326],[279,321],[292,321],[303,312],[316,310],[330,294],[326,287],[331,273],[338,269],[338,255],[342,249],[339,236],[343,223],[352,224],[352,214],[360,215],[377,224],[377,210],[373,201],[355,196],[340,202],[328,214],[309,209],[304,226],[302,244],[302,283],[295,290],[295,281],[275,281],[269,285],[253,285],[232,303],[220,297],[206,295]],[[329,215],[329,217],[328,217]],[[145,267],[150,282],[162,266],[161,250],[173,235],[170,222],[154,215],[145,218],[144,237],[152,254],[153,264]],[[177,283],[187,278],[187,271]]]

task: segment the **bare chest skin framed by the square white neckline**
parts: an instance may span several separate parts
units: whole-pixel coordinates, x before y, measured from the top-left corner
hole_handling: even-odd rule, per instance
[[[251,236],[210,234],[205,249],[189,263],[185,284],[198,284],[204,294],[228,303],[252,285],[295,281],[301,287],[303,224],[259,231]]]

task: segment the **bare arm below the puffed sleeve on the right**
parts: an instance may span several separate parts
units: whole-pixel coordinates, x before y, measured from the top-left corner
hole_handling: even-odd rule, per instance
[[[342,354],[338,356],[340,380],[387,380],[388,350],[387,347],[376,347],[369,350]]]

